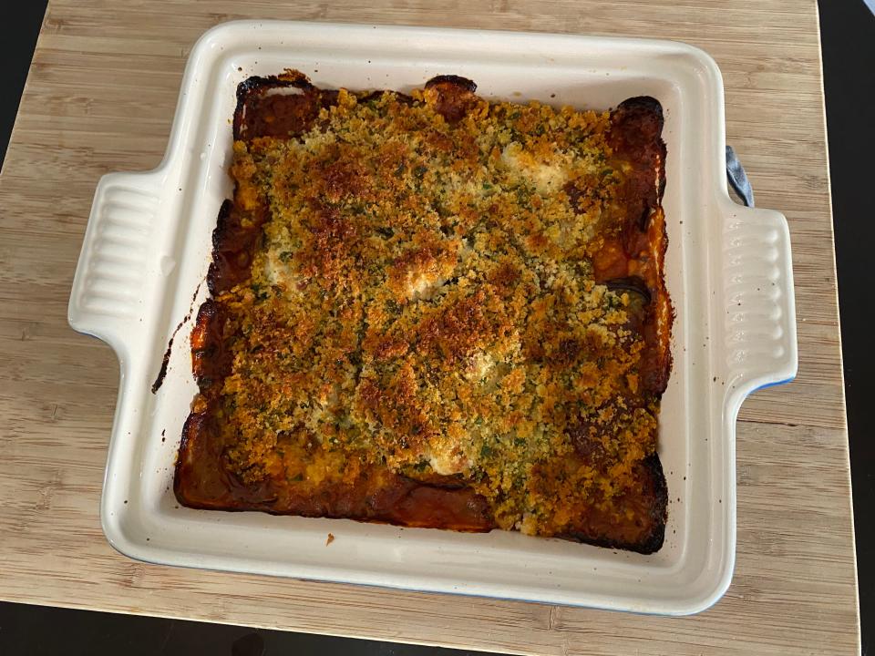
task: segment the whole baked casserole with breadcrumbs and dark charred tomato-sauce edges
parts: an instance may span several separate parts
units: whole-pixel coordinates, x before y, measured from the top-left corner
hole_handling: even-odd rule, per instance
[[[660,548],[659,103],[237,99],[180,503]]]

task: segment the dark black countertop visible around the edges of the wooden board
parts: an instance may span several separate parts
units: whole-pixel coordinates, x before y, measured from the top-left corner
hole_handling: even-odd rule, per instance
[[[6,63],[7,93],[0,97],[0,157],[5,153],[46,2],[31,0],[15,9],[15,27],[0,40]],[[829,131],[836,259],[839,270],[842,353],[848,404],[851,472],[854,488],[857,559],[860,581],[862,653],[875,646],[875,527],[870,507],[875,496],[875,442],[866,425],[868,376],[875,352],[864,341],[875,320],[867,296],[872,274],[869,244],[875,239],[875,216],[869,204],[871,164],[875,153],[875,16],[864,0],[820,6],[824,86]],[[12,25],[10,22],[7,25]],[[789,118],[788,118],[789,119]],[[0,653],[70,655],[345,653],[361,656],[425,656],[467,651],[355,641],[281,631],[62,610],[0,603]]]

